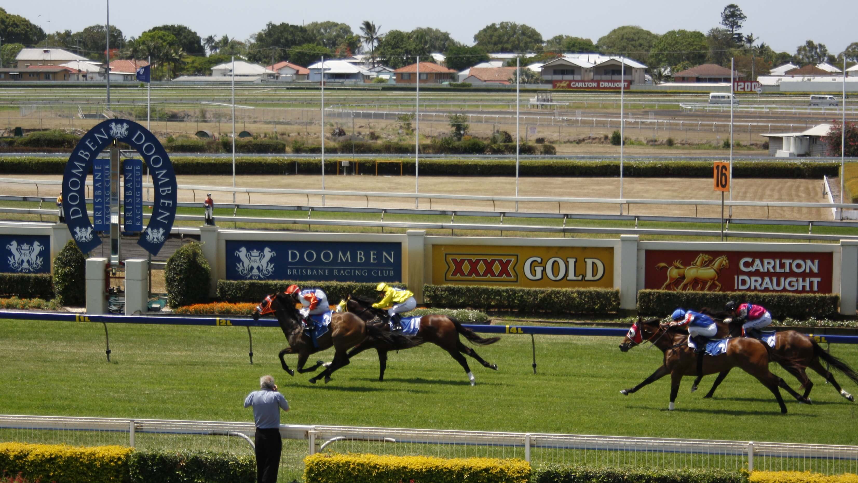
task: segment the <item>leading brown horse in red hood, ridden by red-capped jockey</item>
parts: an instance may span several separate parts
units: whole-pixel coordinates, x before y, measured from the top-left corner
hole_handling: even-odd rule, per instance
[[[304,367],[307,358],[311,354],[329,349],[333,346],[335,349],[334,360],[330,362],[325,370],[317,376],[310,379],[312,384],[316,384],[318,379],[324,377],[325,384],[330,382],[330,375],[340,367],[348,365],[348,357],[346,352],[355,345],[364,342],[366,339],[378,340],[384,343],[389,343],[396,347],[398,343],[389,333],[385,333],[378,327],[367,325],[363,319],[353,313],[333,313],[330,318],[329,331],[322,336],[316,338],[318,347],[315,347],[310,334],[304,331],[304,325],[301,323],[301,316],[298,309],[295,308],[295,302],[283,292],[269,295],[271,299],[271,308],[275,311],[277,321],[280,323],[280,328],[286,340],[289,342],[289,347],[280,351],[280,362],[283,370],[294,376],[295,372],[290,369],[286,360],[283,358],[287,354],[298,354],[298,372],[312,373],[319,367],[324,366],[324,361],[316,361],[313,367]],[[253,311],[253,319],[259,319],[259,312]],[[400,338],[396,336],[396,338]]]

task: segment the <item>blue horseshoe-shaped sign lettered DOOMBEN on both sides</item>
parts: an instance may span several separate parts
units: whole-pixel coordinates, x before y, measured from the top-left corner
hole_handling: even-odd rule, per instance
[[[63,174],[63,211],[69,232],[83,253],[90,253],[101,244],[100,238],[94,236],[93,224],[89,221],[84,186],[92,170],[93,160],[113,140],[122,141],[140,153],[152,175],[155,194],[152,217],[137,244],[157,255],[170,235],[172,222],[176,218],[176,172],[172,169],[164,146],[147,128],[134,121],[109,119],[101,122],[90,129],[71,152]]]

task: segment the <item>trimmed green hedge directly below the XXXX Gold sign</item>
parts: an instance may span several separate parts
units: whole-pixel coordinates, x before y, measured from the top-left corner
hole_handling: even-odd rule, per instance
[[[617,289],[523,289],[427,284],[423,286],[423,299],[442,307],[529,313],[609,313],[619,310]]]

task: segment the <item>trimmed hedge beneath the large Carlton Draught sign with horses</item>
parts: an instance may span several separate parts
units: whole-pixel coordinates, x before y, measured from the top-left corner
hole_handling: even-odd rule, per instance
[[[676,307],[722,309],[727,301],[750,301],[769,310],[775,319],[816,319],[834,316],[840,303],[837,294],[785,294],[769,292],[674,292],[640,290],[637,311],[645,315],[668,315]]]

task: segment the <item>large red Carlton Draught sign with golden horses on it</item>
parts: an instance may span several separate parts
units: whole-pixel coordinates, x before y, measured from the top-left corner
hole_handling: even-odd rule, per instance
[[[644,288],[830,294],[833,253],[647,250]]]

